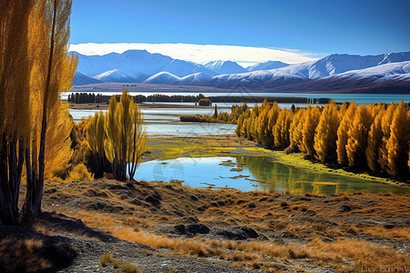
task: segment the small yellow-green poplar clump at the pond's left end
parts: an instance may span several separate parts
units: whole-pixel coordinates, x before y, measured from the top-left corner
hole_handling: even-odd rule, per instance
[[[117,180],[134,178],[147,142],[143,122],[142,113],[127,89],[119,102],[116,96],[111,97],[108,112],[100,111],[88,118],[86,136],[95,177],[103,177],[108,161]]]

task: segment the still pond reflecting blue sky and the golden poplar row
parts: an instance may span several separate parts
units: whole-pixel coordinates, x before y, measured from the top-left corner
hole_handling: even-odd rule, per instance
[[[262,190],[292,194],[410,193],[409,187],[370,180],[321,174],[291,167],[267,156],[179,157],[141,163],[136,180],[184,181],[189,187],[231,187],[241,191]]]

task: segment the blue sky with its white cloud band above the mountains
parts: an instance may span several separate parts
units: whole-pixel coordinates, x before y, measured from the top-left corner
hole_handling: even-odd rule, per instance
[[[410,51],[409,15],[409,0],[74,0],[70,43],[86,55],[299,63]]]

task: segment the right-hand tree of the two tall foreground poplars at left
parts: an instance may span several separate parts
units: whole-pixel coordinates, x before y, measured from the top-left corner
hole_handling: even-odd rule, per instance
[[[77,58],[67,56],[71,5],[71,0],[38,0],[32,14],[30,50],[34,68],[30,86],[33,86],[31,96],[36,100],[33,116],[36,116],[37,123],[41,120],[41,124],[33,126],[31,153],[26,151],[27,190],[23,207],[26,220],[41,213],[46,176],[46,135],[51,128],[49,116],[60,103],[59,93],[71,88],[77,67]]]

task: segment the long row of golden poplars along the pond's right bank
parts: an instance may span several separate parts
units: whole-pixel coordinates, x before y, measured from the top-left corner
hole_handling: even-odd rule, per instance
[[[241,114],[235,132],[265,147],[302,151],[322,163],[394,177],[409,175],[410,109],[403,101],[294,110],[265,101]]]

